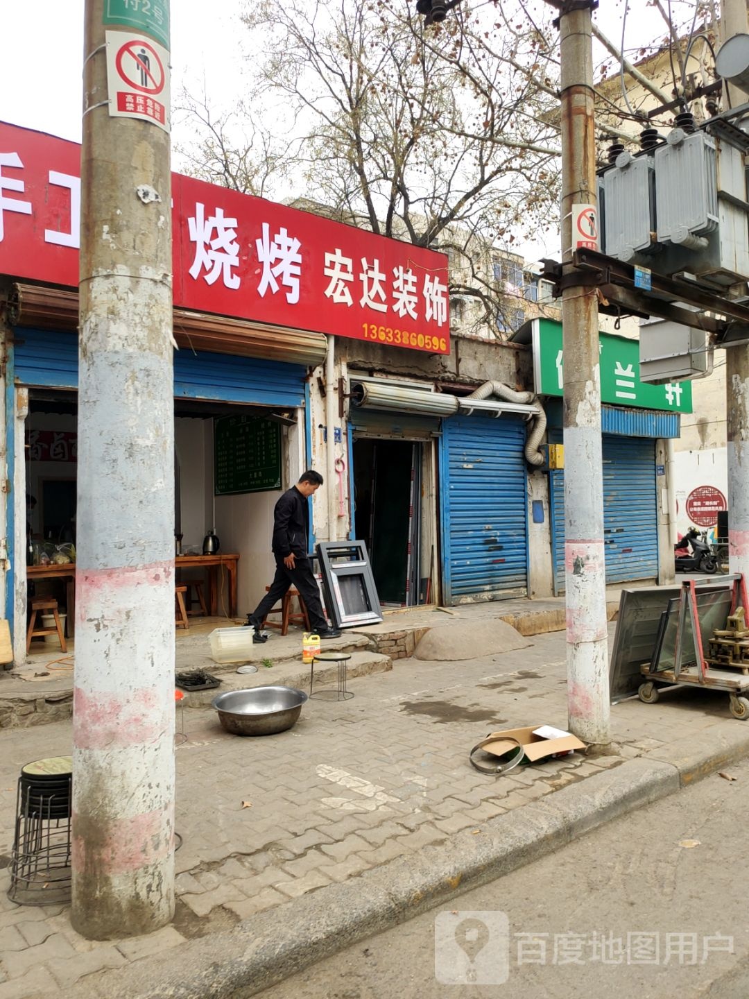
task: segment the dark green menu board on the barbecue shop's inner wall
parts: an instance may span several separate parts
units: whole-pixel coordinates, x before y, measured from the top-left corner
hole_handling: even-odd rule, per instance
[[[216,496],[281,489],[281,427],[263,417],[214,421]]]

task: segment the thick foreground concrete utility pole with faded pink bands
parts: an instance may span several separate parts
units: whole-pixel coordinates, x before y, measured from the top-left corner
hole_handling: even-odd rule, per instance
[[[174,913],[169,134],[110,117],[107,44],[134,98],[158,49],[144,16],[144,39],[108,17],[108,41],[104,8],[86,0],[82,149],[72,923],[89,939]]]

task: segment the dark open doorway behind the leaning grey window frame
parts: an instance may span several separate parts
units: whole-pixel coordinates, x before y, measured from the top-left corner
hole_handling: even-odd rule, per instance
[[[410,441],[354,442],[355,532],[367,542],[383,605],[421,602],[421,452]]]

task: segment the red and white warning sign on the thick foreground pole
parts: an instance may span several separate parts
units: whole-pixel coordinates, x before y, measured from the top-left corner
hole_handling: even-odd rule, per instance
[[[169,51],[153,39],[107,31],[109,113],[169,132]]]

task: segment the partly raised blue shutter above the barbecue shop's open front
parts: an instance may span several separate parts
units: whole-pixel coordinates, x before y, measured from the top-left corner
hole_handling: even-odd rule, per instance
[[[20,384],[78,387],[75,334],[16,329],[14,339],[15,374]],[[175,353],[174,394],[179,399],[296,408],[305,404],[306,374],[300,365],[182,350]]]

